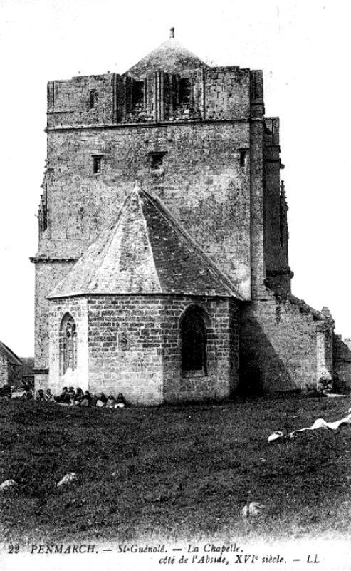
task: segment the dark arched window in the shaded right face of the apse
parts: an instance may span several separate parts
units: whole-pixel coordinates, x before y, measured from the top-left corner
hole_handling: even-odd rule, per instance
[[[189,307],[182,317],[182,373],[207,374],[206,323],[201,308]]]

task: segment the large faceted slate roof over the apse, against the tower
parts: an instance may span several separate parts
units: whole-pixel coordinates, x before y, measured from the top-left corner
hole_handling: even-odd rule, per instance
[[[159,200],[138,185],[117,222],[48,296],[189,294],[237,297],[230,280]]]

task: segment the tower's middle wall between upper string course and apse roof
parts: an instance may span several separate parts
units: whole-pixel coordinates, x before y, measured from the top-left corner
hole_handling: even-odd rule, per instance
[[[240,149],[247,157],[240,163]],[[117,218],[135,185],[172,214],[249,298],[250,130],[248,124],[167,125],[48,134],[48,228],[41,255],[83,252]],[[164,153],[152,171],[152,153]],[[93,173],[93,155],[103,155]]]

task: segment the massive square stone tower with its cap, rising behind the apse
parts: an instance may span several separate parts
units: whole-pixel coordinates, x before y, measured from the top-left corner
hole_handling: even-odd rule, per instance
[[[135,180],[229,280],[226,294],[231,291],[243,316],[235,325],[245,339],[242,378],[253,366],[266,389],[302,382],[286,360],[266,364],[263,345],[262,354],[256,341],[252,348],[257,331],[248,334],[252,319],[266,319],[267,300],[277,304],[277,296],[283,296],[279,307],[290,307],[293,275],[279,120],[264,116],[261,71],[208,66],[171,29],[167,41],[122,75],[50,81],[46,133],[39,245],[33,258],[37,386],[47,386],[50,374],[51,294],[119,220]],[[66,292],[63,286],[58,290]],[[206,288],[204,294],[209,294]],[[235,366],[229,369],[238,368],[229,374],[233,391],[239,387],[239,345],[231,353]]]

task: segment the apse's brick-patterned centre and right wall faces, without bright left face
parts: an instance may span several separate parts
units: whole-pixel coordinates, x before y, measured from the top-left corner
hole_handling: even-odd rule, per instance
[[[183,379],[179,320],[194,303],[211,321],[208,374]],[[122,392],[131,403],[158,404],[224,398],[238,382],[229,362],[238,326],[231,331],[228,300],[98,296],[89,298],[88,308],[91,391]]]

